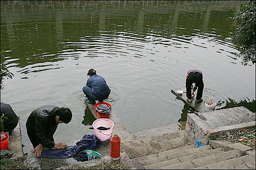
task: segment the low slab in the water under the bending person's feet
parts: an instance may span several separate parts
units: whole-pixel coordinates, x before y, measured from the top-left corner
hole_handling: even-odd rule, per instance
[[[173,94],[175,94],[177,96],[178,99],[182,100],[184,103],[186,103],[188,106],[193,108],[195,111],[197,111],[197,112],[204,112],[205,111],[205,101],[203,101],[202,103],[197,103],[197,102],[195,102],[196,99],[193,99],[192,102],[188,102],[186,93],[178,94],[177,90],[186,91],[186,88],[175,88],[175,89],[172,89],[171,91],[172,91]]]

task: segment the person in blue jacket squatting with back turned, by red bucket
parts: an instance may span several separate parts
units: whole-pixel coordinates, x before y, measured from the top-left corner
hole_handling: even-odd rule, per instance
[[[89,69],[87,76],[90,78],[87,80],[86,86],[83,86],[82,91],[89,99],[87,103],[96,104],[96,101],[103,102],[110,95],[110,88],[106,84],[103,77],[96,75],[96,70]]]

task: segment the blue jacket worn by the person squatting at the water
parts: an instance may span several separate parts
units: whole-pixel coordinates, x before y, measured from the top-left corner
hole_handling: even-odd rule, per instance
[[[106,99],[110,95],[111,90],[101,76],[93,75],[87,80],[86,85],[92,89],[92,93],[96,99]]]

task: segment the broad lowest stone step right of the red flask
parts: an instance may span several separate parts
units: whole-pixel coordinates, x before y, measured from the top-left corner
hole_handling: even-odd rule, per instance
[[[133,159],[180,148],[184,145],[184,131],[177,131],[176,133],[166,133],[143,139],[126,140],[121,142],[121,151]]]

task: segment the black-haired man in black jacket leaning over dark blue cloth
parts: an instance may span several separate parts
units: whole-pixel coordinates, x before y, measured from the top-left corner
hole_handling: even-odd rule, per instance
[[[53,134],[58,124],[68,124],[71,119],[72,112],[65,107],[46,105],[32,111],[27,119],[26,129],[36,157],[41,155],[43,147],[64,149],[68,146],[66,143],[54,143]]]

